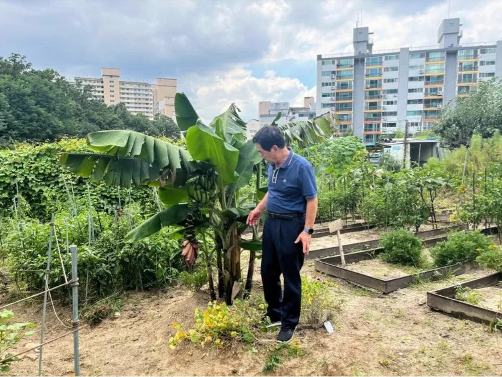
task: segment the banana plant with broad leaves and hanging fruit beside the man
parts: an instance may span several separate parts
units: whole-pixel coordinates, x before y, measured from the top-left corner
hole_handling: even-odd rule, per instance
[[[216,245],[218,292],[228,304],[240,291],[241,246],[253,251],[260,249],[257,242],[242,244],[240,237],[253,206],[237,207],[237,193],[249,183],[254,167],[260,166],[262,158],[252,140],[246,141],[246,125],[238,111],[231,104],[206,125],[187,97],[177,93],[176,120],[186,138],[186,149],[138,132],[112,130],[87,135],[89,148],[97,153],[64,153],[60,158],[63,166],[93,181],[104,180],[122,187],[131,184],[158,187],[165,209],[133,229],[127,240],[134,242],[163,227],[179,226],[185,234],[182,243],[185,260],[192,264],[199,250],[195,234],[204,235],[200,250],[205,255],[214,299],[211,265],[214,250],[208,250],[204,244],[207,237],[212,237]],[[295,140],[303,145],[331,135],[325,118],[292,122],[280,128],[289,142]],[[246,280],[250,281],[249,275]]]

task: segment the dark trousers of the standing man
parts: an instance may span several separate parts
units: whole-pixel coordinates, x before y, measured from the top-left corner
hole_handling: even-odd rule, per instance
[[[302,281],[300,270],[304,254],[302,243],[295,244],[303,231],[305,217],[293,219],[267,218],[262,237],[262,281],[267,315],[272,322],[281,320],[282,327],[295,328],[300,320]],[[282,293],[281,273],[284,277]]]

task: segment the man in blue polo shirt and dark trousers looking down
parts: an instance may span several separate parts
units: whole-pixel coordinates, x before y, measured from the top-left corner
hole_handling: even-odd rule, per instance
[[[270,162],[268,192],[249,213],[247,224],[258,224],[267,209],[262,237],[262,281],[271,324],[281,326],[278,342],[289,342],[300,319],[300,270],[309,253],[317,213],[317,184],[311,164],[286,147],[279,128],[265,126],[253,137]],[[284,294],[279,277],[284,278]]]

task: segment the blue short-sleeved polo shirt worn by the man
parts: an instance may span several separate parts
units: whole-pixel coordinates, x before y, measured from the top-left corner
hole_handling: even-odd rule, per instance
[[[290,153],[281,167],[269,164],[269,198],[267,211],[275,213],[305,213],[307,199],[317,197],[314,169],[304,157]]]

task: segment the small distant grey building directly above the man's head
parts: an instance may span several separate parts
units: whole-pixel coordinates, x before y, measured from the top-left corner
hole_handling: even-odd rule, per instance
[[[281,112],[281,118],[276,122],[278,125],[297,120],[308,120],[316,116],[316,103],[314,97],[304,97],[303,107],[290,107],[289,102],[261,101],[258,103],[260,126],[270,125],[279,112]]]

